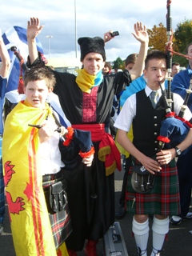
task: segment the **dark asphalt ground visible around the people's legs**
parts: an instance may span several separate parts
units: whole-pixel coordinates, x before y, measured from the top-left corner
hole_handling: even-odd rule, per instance
[[[122,187],[122,177],[124,170],[122,172],[116,171],[115,173],[115,201],[116,208],[118,210],[118,198],[120,196],[120,191]],[[190,211],[192,211],[192,202]],[[131,214],[126,214],[122,220],[120,220],[120,225],[122,227],[122,234],[126,242],[126,248],[129,256],[136,255],[136,246],[134,238],[131,235],[131,222],[133,216]],[[117,220],[118,221],[118,220]],[[151,220],[150,220],[151,222]],[[0,235],[0,255],[1,256],[15,256],[14,246],[12,241],[12,236],[10,232],[10,223],[7,216],[6,210],[6,221],[4,234]],[[18,226],[19,232],[19,226]],[[173,226],[170,224],[170,232],[168,237],[168,242],[165,242],[163,246],[162,256],[191,256],[192,255],[192,220],[184,220],[179,226]],[[149,238],[149,248],[151,248],[151,232]],[[150,255],[150,250],[149,250]],[[78,253],[78,256],[84,256],[83,252]],[[103,241],[98,243],[98,256],[104,256],[103,252]]]

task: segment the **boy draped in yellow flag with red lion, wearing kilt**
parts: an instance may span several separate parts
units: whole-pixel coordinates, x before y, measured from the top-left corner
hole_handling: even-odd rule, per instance
[[[48,214],[42,189],[42,179],[46,183],[63,180],[64,164],[58,148],[61,135],[46,103],[54,84],[54,75],[46,67],[26,71],[26,99],[18,102],[6,118],[2,161],[17,255],[68,255],[62,232],[69,216],[64,218],[63,210],[62,218],[58,217],[60,212]]]

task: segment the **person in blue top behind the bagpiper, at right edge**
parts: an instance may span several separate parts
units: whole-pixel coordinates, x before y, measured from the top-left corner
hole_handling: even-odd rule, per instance
[[[186,90],[192,86],[192,43],[186,46],[186,55],[190,58],[188,59],[189,64],[186,70],[182,70],[178,74],[174,75],[174,79],[171,83],[171,90],[182,96],[184,99],[186,97]],[[187,106],[192,112],[192,94],[190,94]],[[192,219],[192,213],[190,210],[190,199],[191,199],[191,188],[192,188],[192,150],[189,150],[187,154],[178,158],[178,181],[180,190],[180,201],[181,201],[181,214],[178,216],[172,216],[170,222],[174,225],[179,225],[183,218]]]

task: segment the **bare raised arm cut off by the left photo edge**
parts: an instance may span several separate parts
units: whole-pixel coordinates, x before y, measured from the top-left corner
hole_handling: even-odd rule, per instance
[[[0,30],[0,57],[2,59],[2,67],[0,68],[0,75],[2,78],[6,78],[10,69],[10,55],[6,50],[6,46],[2,39],[2,31]]]

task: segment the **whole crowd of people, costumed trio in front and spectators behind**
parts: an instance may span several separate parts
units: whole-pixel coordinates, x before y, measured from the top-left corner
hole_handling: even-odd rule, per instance
[[[178,225],[182,218],[192,218],[191,149],[182,155],[192,144],[192,95],[183,116],[189,124],[186,137],[174,145],[164,143],[160,149],[158,137],[167,118],[166,54],[160,50],[147,54],[146,26],[134,24],[138,54],[130,54],[125,70],[117,73],[106,62],[105,44],[114,38],[111,31],[104,38],[78,38],[82,69],[77,76],[46,66],[35,41],[42,30],[39,19],[30,18],[26,32],[29,70],[23,78],[26,98],[7,115],[4,130],[1,120],[0,233],[6,187],[17,255],[76,256],[84,250],[86,256],[97,256],[98,241],[115,217],[123,218],[126,212],[134,214],[132,231],[138,255],[143,256],[148,253],[149,216],[153,217],[150,256],[160,255],[170,222]],[[186,54],[192,57],[192,44]],[[2,38],[0,57],[4,98],[10,58]],[[191,69],[191,59],[182,72],[178,62],[172,65],[170,113],[179,114]],[[53,92],[68,127],[62,126],[47,102]],[[118,99],[117,138],[110,134],[114,99]],[[121,153],[126,170],[115,214],[114,171],[122,168]]]

